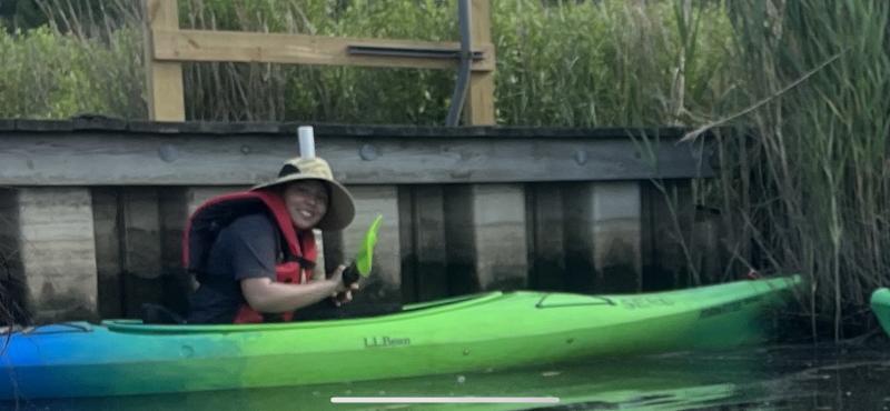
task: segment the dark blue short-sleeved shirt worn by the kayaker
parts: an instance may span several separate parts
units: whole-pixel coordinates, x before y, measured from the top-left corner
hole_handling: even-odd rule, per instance
[[[265,213],[244,215],[220,230],[205,264],[201,284],[189,300],[189,323],[231,323],[246,303],[240,281],[275,281],[278,229]]]

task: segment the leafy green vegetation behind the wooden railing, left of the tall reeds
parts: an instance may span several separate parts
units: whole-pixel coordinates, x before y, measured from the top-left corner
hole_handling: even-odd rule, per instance
[[[98,8],[102,13],[76,10],[68,0],[40,3],[53,11],[50,27],[0,34],[0,57],[12,62],[0,69],[0,117],[145,118],[137,2],[90,2],[106,3]],[[719,3],[676,4],[494,1],[498,122],[682,124],[693,121],[693,113],[713,112],[729,81],[726,10]],[[454,1],[180,0],[179,6],[184,28],[457,39]],[[195,63],[186,64],[185,82],[190,119],[442,124],[455,72]]]

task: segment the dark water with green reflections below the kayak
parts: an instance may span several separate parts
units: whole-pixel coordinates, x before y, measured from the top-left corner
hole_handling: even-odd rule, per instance
[[[297,372],[297,371],[295,371]],[[332,397],[557,397],[556,404],[332,404]],[[19,401],[21,410],[890,410],[890,343],[774,345],[521,371],[177,395]]]

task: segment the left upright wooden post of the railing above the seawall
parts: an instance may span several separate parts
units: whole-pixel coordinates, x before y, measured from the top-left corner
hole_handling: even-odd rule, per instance
[[[182,92],[182,64],[155,61],[152,58],[157,40],[152,38],[151,33],[161,29],[179,29],[179,10],[176,0],[146,0],[145,6],[148,117],[159,121],[184,121],[186,107]]]

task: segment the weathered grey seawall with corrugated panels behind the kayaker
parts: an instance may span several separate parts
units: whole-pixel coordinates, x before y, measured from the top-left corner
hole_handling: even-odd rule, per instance
[[[7,292],[37,322],[182,309],[188,214],[275,176],[297,126],[0,120]],[[360,299],[671,287],[688,260],[674,218],[691,225],[689,181],[711,174],[682,131],[316,126],[357,202],[352,227],[323,234],[324,260],[350,258],[383,214]]]

